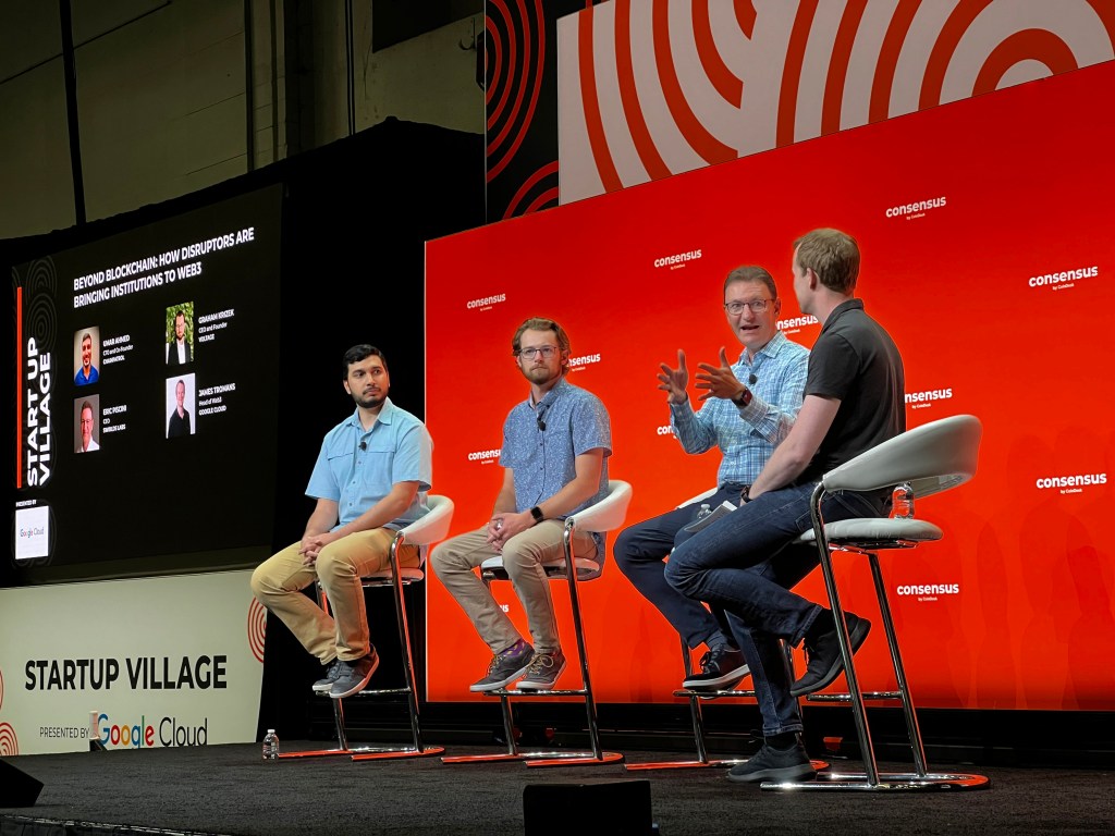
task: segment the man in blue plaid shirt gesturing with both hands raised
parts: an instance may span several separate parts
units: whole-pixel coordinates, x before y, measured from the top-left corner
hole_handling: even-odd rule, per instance
[[[685,451],[720,449],[717,488],[699,502],[624,528],[612,550],[620,571],[689,648],[708,648],[700,670],[682,681],[683,688],[694,690],[734,688],[748,668],[723,618],[675,590],[666,581],[662,561],[690,536],[686,526],[694,523],[701,503],[709,508],[725,500],[739,503],[740,492],[756,479],[775,445],[789,432],[805,397],[808,362],[808,351],[778,330],[782,300],[763,268],[740,266],[728,273],[724,311],[744,350],[734,366],[728,364],[723,348],[718,366],[700,363],[696,388],[705,391],[699,411],[694,411],[686,391],[685,351],[678,351],[678,368],[662,363],[658,376],[658,388],[669,392],[670,426]]]

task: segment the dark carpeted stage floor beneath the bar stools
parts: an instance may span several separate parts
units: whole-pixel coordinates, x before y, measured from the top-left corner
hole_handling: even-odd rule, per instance
[[[283,751],[320,742],[283,741]],[[449,747],[446,755],[494,751]],[[628,764],[679,759],[678,752],[624,752]],[[42,782],[31,807],[0,807],[0,835],[174,833],[457,834],[637,833],[592,826],[575,785],[649,781],[649,819],[662,836],[719,834],[1112,834],[1115,782],[1107,769],[986,768],[983,790],[888,794],[780,793],[737,785],[726,769],[628,770],[622,762],[530,768],[522,761],[443,764],[440,757],[353,762],[348,757],[266,764],[258,745],[26,755],[7,758]],[[908,771],[906,764],[882,768]],[[842,771],[854,761],[834,761]],[[553,803],[553,829],[524,823],[524,790]],[[607,793],[609,787],[594,786]],[[612,789],[617,789],[612,787]],[[622,789],[622,788],[620,788]],[[631,789],[630,787],[628,789]],[[0,788],[2,791],[2,788]],[[533,801],[532,801],[533,803]],[[605,805],[611,806],[611,805]],[[638,813],[639,810],[637,810]],[[646,817],[646,804],[642,805]],[[599,820],[599,819],[598,819]],[[589,823],[589,824],[585,824]]]

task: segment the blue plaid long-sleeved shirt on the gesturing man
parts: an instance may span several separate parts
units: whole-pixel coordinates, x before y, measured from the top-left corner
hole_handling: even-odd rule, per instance
[[[779,331],[747,362],[746,349],[731,367],[752,391],[743,408],[724,398],[709,398],[694,412],[691,401],[670,405],[670,427],[686,453],[720,448],[717,484],[750,485],[774,448],[794,425],[805,398],[809,351]],[[754,375],[754,383],[747,383]]]

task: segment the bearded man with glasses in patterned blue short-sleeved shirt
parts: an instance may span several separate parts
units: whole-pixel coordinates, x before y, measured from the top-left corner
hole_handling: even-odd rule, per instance
[[[492,518],[445,541],[430,565],[492,650],[487,673],[473,691],[493,691],[523,677],[521,689],[550,690],[565,668],[550,582],[543,564],[563,560],[564,519],[608,495],[611,424],[600,398],[565,380],[569,336],[550,319],[523,322],[511,341],[530,396],[503,425],[505,468]],[[578,556],[604,560],[600,535],[575,532]],[[533,644],[520,635],[476,567],[495,555],[526,611]],[[525,675],[524,675],[525,674]]]

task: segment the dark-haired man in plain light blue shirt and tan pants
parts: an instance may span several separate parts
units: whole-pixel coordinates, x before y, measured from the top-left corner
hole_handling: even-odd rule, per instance
[[[345,390],[356,411],[321,443],[306,493],[317,505],[302,539],[260,564],[252,592],[327,667],[313,690],[340,699],[359,692],[379,665],[360,577],[387,568],[399,528],[428,511],[434,444],[425,425],[387,397],[390,378],[379,349],[345,352]],[[417,566],[404,545],[400,566]],[[321,583],[332,616],[302,594]]]

